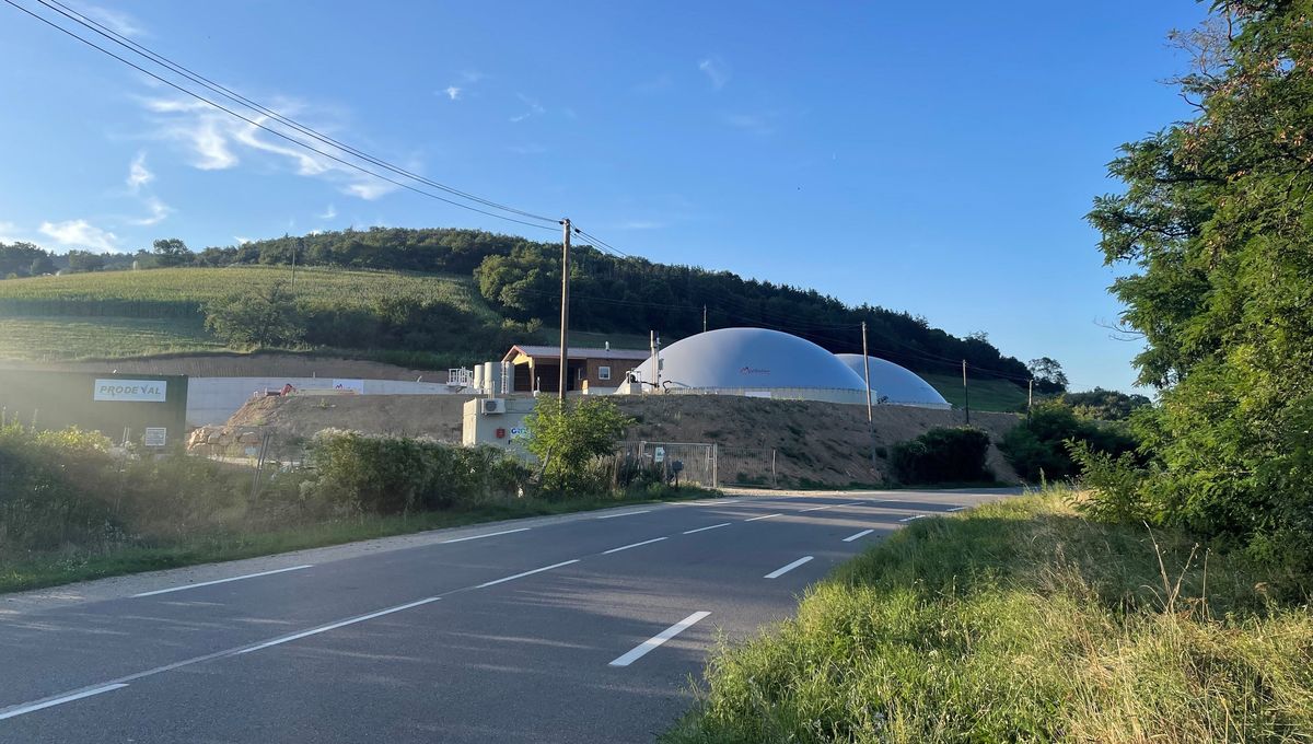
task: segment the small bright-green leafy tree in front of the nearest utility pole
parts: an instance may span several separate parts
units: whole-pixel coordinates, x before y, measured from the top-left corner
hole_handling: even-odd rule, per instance
[[[633,419],[605,398],[566,403],[540,398],[524,420],[529,430],[524,446],[538,458],[538,480],[548,491],[596,491],[601,484],[590,483],[588,465],[614,454],[616,442],[630,424]]]

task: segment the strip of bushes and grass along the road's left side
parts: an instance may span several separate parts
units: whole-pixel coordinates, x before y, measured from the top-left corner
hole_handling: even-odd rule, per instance
[[[620,467],[612,429],[595,429],[612,419],[613,404],[597,402],[557,428],[590,453],[555,458],[557,480],[491,447],[332,429],[305,467],[257,474],[116,447],[98,433],[0,424],[0,592],[709,493]]]

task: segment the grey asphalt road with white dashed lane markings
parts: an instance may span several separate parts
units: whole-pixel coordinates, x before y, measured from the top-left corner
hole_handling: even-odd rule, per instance
[[[1006,493],[739,495],[9,597],[0,741],[651,741],[722,634]]]

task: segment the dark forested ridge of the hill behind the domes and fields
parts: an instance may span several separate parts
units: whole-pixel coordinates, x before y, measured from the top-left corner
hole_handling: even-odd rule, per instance
[[[50,270],[97,270],[154,266],[298,265],[400,270],[473,277],[486,303],[506,319],[554,325],[559,314],[559,245],[491,232],[445,228],[345,230],[257,240],[238,247],[188,251],[180,241],[156,241],[135,255],[75,252],[55,256],[33,245],[0,245],[0,276],[24,277]],[[951,373],[961,360],[983,377],[1024,379],[1025,365],[1004,357],[983,337],[958,339],[924,319],[874,304],[850,307],[815,290],[744,279],[730,272],[617,257],[591,247],[572,253],[571,320],[582,331],[639,333],[667,340],[709,328],[760,325],[797,333],[832,352],[859,352],[859,324],[868,323],[873,354],[920,371]],[[18,293],[20,295],[28,293]],[[8,298],[8,300],[5,299]],[[85,299],[85,298],[81,298]],[[0,291],[11,312],[22,299]],[[89,306],[88,312],[91,312]],[[70,306],[41,315],[77,315]]]

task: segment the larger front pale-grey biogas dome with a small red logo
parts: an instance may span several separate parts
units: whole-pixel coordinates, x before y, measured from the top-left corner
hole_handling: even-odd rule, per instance
[[[863,378],[821,346],[767,328],[720,328],[660,350],[667,392],[762,395],[834,403],[863,403]],[[649,358],[638,379],[656,382]]]

